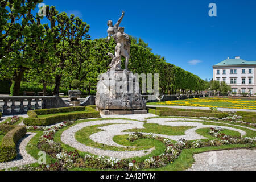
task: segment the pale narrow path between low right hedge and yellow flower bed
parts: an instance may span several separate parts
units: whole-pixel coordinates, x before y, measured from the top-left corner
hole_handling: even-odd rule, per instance
[[[162,106],[162,105],[147,105],[147,107],[167,107],[167,108],[176,108],[176,109],[200,109],[200,110],[210,110],[210,107],[192,107],[192,106]],[[216,107],[218,111],[224,112],[236,112],[236,111],[245,111],[245,112],[256,112],[253,109],[233,109],[233,108],[221,108]]]

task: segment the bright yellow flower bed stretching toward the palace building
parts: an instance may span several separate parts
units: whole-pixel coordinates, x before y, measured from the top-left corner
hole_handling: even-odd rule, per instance
[[[228,106],[216,106],[216,105],[202,105],[195,104],[194,102],[225,102],[230,103]],[[193,106],[193,107],[222,107],[222,108],[230,108],[230,109],[254,109],[256,110],[256,101],[241,101],[241,99],[229,99],[229,98],[193,98],[191,100],[176,100],[176,101],[166,101],[160,102],[159,104],[163,105],[180,105],[180,106]],[[238,105],[239,104],[239,105]],[[255,106],[247,106],[247,105],[255,105]]]

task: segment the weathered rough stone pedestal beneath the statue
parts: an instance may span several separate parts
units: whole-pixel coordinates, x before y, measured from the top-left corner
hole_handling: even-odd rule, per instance
[[[126,69],[112,68],[101,75],[95,104],[102,114],[135,114],[146,109],[146,101],[139,93],[138,78]]]

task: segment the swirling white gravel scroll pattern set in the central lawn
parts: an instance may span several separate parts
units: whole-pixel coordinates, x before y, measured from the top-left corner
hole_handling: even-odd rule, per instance
[[[179,122],[175,122],[177,120],[179,120]],[[148,119],[147,122],[157,123],[159,125],[167,125],[167,126],[194,126],[194,128],[186,130],[185,135],[169,136],[169,135],[155,134],[160,137],[169,138],[172,140],[179,140],[181,138],[184,138],[186,140],[205,139],[205,137],[196,133],[197,129],[205,128],[205,127],[218,127],[216,125],[203,125],[202,123],[199,123],[199,122],[184,122],[184,121],[195,121],[195,120],[196,119],[183,118],[183,121],[180,122],[180,118],[154,118],[154,119]],[[174,122],[167,122],[167,121],[174,121]],[[148,153],[145,154],[144,151],[123,152],[123,151],[102,150],[99,148],[86,146],[85,144],[77,142],[77,140],[75,139],[75,133],[81,130],[82,128],[87,126],[101,125],[101,124],[107,124],[107,123],[110,123],[110,124],[113,123],[113,125],[100,127],[100,129],[102,129],[103,131],[90,135],[90,139],[92,139],[94,142],[102,143],[108,146],[125,147],[115,143],[113,141],[113,137],[115,135],[130,134],[131,132],[123,132],[124,130],[127,130],[127,129],[143,128],[142,122],[121,120],[121,119],[84,122],[84,123],[79,123],[75,126],[69,127],[69,129],[65,130],[61,135],[61,141],[80,151],[90,152],[95,155],[110,156],[113,158],[125,159],[125,158],[131,158],[134,156],[143,156],[148,154]],[[241,135],[246,134],[245,131],[240,129],[235,129],[233,127],[228,127],[228,126],[221,126],[221,127],[224,129],[238,131]],[[143,133],[143,134],[148,134],[148,133]],[[153,149],[151,148],[151,151],[152,150]]]

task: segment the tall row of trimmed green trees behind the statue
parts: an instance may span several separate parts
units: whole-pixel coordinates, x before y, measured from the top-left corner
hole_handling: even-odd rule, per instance
[[[13,81],[14,96],[19,95],[23,80],[42,83],[45,94],[47,84],[54,84],[53,94],[58,95],[60,86],[71,88],[72,80],[77,79],[90,93],[96,89],[98,75],[109,68],[108,52],[114,53],[114,40],[90,40],[88,24],[55,7],[46,6],[45,17],[32,14],[40,2],[0,0],[0,79]],[[42,18],[48,23],[42,24]],[[154,55],[142,39],[130,38],[129,69],[138,74],[159,73],[160,92],[205,89],[198,76]]]

